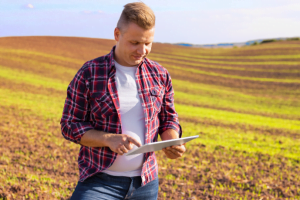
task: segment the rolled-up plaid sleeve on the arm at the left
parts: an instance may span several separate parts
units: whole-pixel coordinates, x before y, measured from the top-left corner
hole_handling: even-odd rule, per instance
[[[65,139],[79,144],[88,130],[94,129],[89,121],[88,82],[84,66],[77,72],[67,89],[67,98],[60,121]]]

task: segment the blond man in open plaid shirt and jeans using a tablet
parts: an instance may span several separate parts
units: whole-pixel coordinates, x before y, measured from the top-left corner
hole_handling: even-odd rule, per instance
[[[71,81],[65,101],[63,136],[81,145],[80,180],[74,199],[157,199],[154,152],[126,156],[146,143],[182,135],[166,69],[146,58],[155,15],[142,2],[124,6],[114,31],[116,46],[86,62]],[[175,159],[184,145],[163,149]]]

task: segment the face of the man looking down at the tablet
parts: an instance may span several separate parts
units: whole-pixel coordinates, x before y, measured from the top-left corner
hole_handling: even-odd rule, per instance
[[[123,29],[115,28],[115,59],[123,66],[138,65],[151,51],[154,27],[145,30],[135,23],[129,23]]]

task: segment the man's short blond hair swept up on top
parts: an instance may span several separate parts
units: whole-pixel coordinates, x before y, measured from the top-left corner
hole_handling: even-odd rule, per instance
[[[143,2],[128,3],[124,6],[117,27],[124,29],[129,22],[133,22],[146,30],[155,26],[155,15],[153,10]]]

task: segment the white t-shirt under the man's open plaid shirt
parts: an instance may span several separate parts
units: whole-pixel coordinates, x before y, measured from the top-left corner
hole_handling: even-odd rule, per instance
[[[122,134],[130,135],[142,145],[145,141],[145,116],[135,82],[137,67],[126,67],[115,62]],[[134,148],[137,148],[134,146]],[[113,176],[141,176],[144,154],[117,155],[116,160],[104,173]]]

